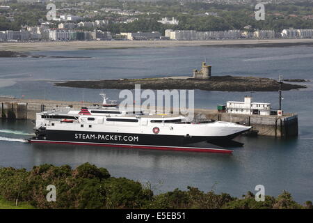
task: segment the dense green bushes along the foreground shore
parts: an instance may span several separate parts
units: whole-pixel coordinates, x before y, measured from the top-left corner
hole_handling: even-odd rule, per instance
[[[47,185],[56,186],[56,202],[47,201]],[[154,195],[148,186],[111,177],[106,169],[89,163],[76,169],[51,164],[33,167],[31,171],[0,168],[0,197],[35,208],[312,208],[311,201],[300,205],[285,191],[277,198],[266,196],[264,202],[257,202],[251,192],[238,199],[230,194],[187,188]]]

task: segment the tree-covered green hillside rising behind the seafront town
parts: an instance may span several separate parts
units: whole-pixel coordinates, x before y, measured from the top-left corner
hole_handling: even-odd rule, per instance
[[[111,33],[120,32],[137,32],[137,31],[159,31],[165,29],[176,30],[196,30],[196,31],[224,31],[230,29],[244,29],[250,26],[250,29],[271,29],[276,32],[282,29],[313,29],[313,20],[305,19],[305,16],[312,16],[313,1],[299,3],[281,3],[279,5],[267,4],[265,6],[265,21],[255,20],[254,6],[248,5],[222,5],[217,3],[205,2],[181,2],[181,1],[127,1],[120,2],[117,0],[97,1],[97,6],[83,6],[86,10],[78,14],[81,16],[88,15],[90,10],[99,10],[99,8],[111,7],[122,10],[139,10],[143,14],[134,15],[138,21],[128,24],[111,22],[103,26],[103,31]],[[57,8],[61,8],[59,3]],[[0,10],[0,30],[19,30],[21,26],[34,26],[40,24],[40,19],[46,20],[46,5],[28,5],[24,3],[8,3],[10,10]],[[14,21],[6,19],[6,13],[23,13],[14,16]],[[205,13],[211,13],[206,15]],[[72,14],[72,11],[62,13]],[[213,14],[212,14],[213,13]],[[105,17],[120,17],[120,15],[100,13],[93,18],[86,20],[101,20]],[[177,26],[163,25],[157,20],[162,17],[175,17],[179,20]],[[56,27],[56,25],[51,25]]]

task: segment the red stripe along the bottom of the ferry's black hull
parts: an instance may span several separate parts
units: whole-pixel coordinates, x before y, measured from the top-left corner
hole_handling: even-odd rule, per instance
[[[202,153],[232,153],[232,150],[220,148],[197,148],[197,147],[176,147],[176,146],[145,146],[145,145],[131,145],[131,144],[99,144],[76,141],[48,141],[29,139],[30,143],[45,143],[45,144],[72,144],[72,145],[88,145],[88,146],[111,146],[122,148],[147,148],[162,151],[188,151],[188,152],[202,152]]]

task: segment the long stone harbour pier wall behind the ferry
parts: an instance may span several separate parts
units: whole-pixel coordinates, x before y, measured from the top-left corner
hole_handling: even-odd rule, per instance
[[[56,107],[72,107],[80,109],[82,106],[95,105],[93,102],[65,102],[55,100],[27,100],[0,98],[0,118],[8,119],[35,119],[37,112],[47,111]],[[164,112],[164,111],[163,111]],[[163,113],[162,112],[162,113]],[[165,112],[166,113],[166,112]],[[218,113],[214,109],[195,109],[195,116],[240,123],[241,125],[252,126],[259,135],[287,139],[298,135],[298,115],[284,114],[282,116],[259,116],[246,114]]]

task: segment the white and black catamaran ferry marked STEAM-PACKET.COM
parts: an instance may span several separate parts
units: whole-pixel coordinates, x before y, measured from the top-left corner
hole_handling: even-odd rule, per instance
[[[172,151],[232,153],[195,144],[233,139],[251,127],[221,121],[190,122],[182,115],[144,114],[106,103],[102,107],[57,108],[36,114],[31,143],[147,148]]]

